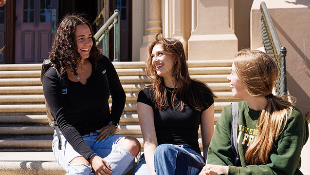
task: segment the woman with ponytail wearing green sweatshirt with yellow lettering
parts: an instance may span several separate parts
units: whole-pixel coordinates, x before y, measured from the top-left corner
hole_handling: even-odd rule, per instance
[[[215,127],[207,164],[200,175],[302,175],[302,147],[309,137],[306,117],[288,99],[272,94],[278,77],[274,60],[261,51],[241,50],[227,77],[238,102],[237,150],[232,148],[232,105]]]

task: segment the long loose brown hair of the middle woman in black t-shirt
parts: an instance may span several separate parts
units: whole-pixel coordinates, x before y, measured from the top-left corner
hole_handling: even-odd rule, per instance
[[[164,85],[164,79],[157,75],[156,70],[152,65],[152,50],[157,44],[160,44],[163,47],[166,54],[171,55],[176,59],[172,73],[172,80],[174,87],[177,87],[177,89],[174,89],[171,95],[172,106],[169,105],[166,97],[167,87]],[[164,38],[160,33],[156,35],[155,40],[151,42],[148,47],[146,75],[153,81],[148,87],[154,89],[153,102],[155,102],[155,107],[160,110],[167,107],[173,107],[175,109],[181,107],[180,109],[182,111],[185,109],[184,106],[186,104],[201,112],[204,106],[209,106],[209,104],[205,102],[207,100],[203,99],[202,94],[208,93],[212,97],[216,97],[205,83],[193,80],[189,77],[182,43],[177,39]],[[176,95],[178,95],[180,101],[178,104],[174,104],[174,98]]]

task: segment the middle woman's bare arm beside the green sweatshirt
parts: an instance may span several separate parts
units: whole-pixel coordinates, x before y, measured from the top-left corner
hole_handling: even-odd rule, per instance
[[[207,160],[208,148],[214,133],[214,103],[201,114],[201,138],[204,160]]]

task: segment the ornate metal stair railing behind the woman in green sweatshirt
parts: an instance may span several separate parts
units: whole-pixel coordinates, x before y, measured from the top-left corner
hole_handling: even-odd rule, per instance
[[[264,1],[260,3],[261,11],[261,39],[265,52],[274,58],[278,65],[279,75],[276,80],[274,90],[278,97],[288,94],[286,81],[286,48],[281,46],[278,35],[275,31],[273,21]]]

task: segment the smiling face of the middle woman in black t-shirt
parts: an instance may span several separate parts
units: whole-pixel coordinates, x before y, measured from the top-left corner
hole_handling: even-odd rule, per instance
[[[156,70],[158,76],[163,78],[171,78],[173,74],[173,68],[175,65],[175,58],[164,52],[162,45],[156,44],[153,47],[152,54],[152,65]]]

